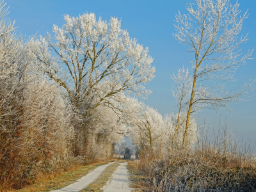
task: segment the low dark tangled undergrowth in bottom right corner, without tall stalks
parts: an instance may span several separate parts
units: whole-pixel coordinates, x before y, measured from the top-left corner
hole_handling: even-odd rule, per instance
[[[255,163],[242,165],[232,157],[212,154],[202,158],[198,154],[175,154],[169,159],[148,161],[143,171],[155,191],[256,190]]]

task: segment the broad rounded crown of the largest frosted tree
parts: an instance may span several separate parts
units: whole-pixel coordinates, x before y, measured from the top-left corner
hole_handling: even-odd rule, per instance
[[[120,28],[120,20],[96,20],[94,13],[64,19],[62,28],[54,25],[53,38],[40,38],[36,56],[42,71],[66,90],[74,106],[84,103],[86,114],[120,92],[150,93],[143,84],[154,77],[153,59],[148,48]]]

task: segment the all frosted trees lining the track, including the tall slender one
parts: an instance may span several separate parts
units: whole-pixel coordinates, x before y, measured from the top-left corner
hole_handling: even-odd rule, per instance
[[[202,6],[200,0],[196,2]],[[212,1],[204,2],[205,7],[212,7]],[[200,13],[203,7],[198,11],[189,9],[196,19],[202,19],[198,23],[203,26],[195,29],[202,30],[199,35],[190,34],[190,17],[176,15],[175,37],[191,46],[189,51],[195,52],[196,64],[191,68],[192,76],[184,67],[172,76],[178,113],[163,118],[156,109],[130,97],[147,97],[150,90],[144,85],[154,77],[155,68],[148,48],[131,39],[121,29],[120,20],[97,20],[93,13],[65,15],[61,28],[54,25],[54,36],[26,41],[15,35],[13,24],[6,20],[8,11],[0,1],[2,188],[21,188],[40,174],[112,157],[113,143],[125,134],[138,146],[140,157],[153,150],[168,155],[174,148],[191,148],[198,139],[195,111],[226,108],[229,102],[246,96],[253,84],[245,84],[237,92],[226,92],[221,83],[215,87],[200,84],[215,79],[232,81],[237,67],[252,55],[248,52],[237,60],[241,53],[233,52],[246,38],[230,47],[247,17],[245,14],[239,22],[234,20],[239,13],[237,5],[228,12],[231,19],[221,22],[222,26],[214,20],[225,16],[220,13],[227,3],[218,1],[220,9],[211,12],[214,17],[202,17],[208,14]],[[207,19],[213,28],[204,26]],[[232,22],[236,33],[228,27]],[[223,41],[222,33],[218,36],[223,28],[227,28],[223,33],[227,33],[227,41]],[[211,57],[214,53],[216,58]]]

